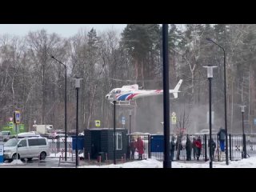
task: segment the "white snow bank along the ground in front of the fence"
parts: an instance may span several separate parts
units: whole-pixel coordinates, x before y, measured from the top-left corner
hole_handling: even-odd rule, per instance
[[[241,161],[213,162],[214,168],[256,168],[256,157],[246,158]],[[155,159],[126,162],[123,164],[110,164],[102,166],[79,166],[79,168],[162,168],[162,162]],[[172,168],[209,168],[209,162],[172,162]]]

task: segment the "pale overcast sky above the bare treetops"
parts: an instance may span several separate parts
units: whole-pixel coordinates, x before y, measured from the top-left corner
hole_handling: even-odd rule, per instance
[[[0,35],[14,34],[24,36],[29,31],[45,29],[47,33],[56,33],[63,38],[69,38],[77,34],[80,29],[90,30],[92,27],[98,32],[114,29],[121,33],[126,24],[0,24]]]

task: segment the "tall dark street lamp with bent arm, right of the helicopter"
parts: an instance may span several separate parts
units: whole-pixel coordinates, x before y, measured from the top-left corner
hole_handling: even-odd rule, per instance
[[[227,141],[227,120],[226,120],[226,53],[225,53],[225,49],[218,45],[217,42],[214,42],[212,39],[210,38],[206,38],[207,41],[209,42],[213,42],[216,46],[218,46],[219,48],[221,48],[223,50],[223,59],[224,59],[224,106],[225,106],[225,132],[226,132],[226,165],[229,165],[229,158],[228,158],[228,141]]]

